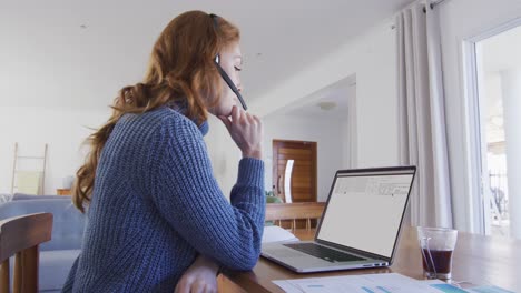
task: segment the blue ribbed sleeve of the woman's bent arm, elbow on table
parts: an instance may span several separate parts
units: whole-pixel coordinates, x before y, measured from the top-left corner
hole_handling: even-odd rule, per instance
[[[169,119],[156,138],[160,155],[151,162],[151,185],[160,214],[199,253],[227,269],[253,269],[264,228],[263,161],[240,160],[230,205],[191,121]]]

